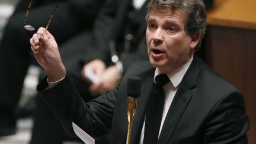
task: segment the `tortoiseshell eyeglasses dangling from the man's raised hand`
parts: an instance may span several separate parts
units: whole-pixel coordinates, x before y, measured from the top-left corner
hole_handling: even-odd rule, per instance
[[[27,17],[28,17],[28,11],[30,10],[30,8],[32,7],[32,1],[30,1],[30,3],[28,4],[28,9],[25,12],[25,20],[24,20],[24,28],[28,31],[34,31],[35,28],[32,25],[27,24]],[[57,10],[57,8],[59,8],[59,4],[57,4],[57,6],[55,7],[55,9],[53,9],[52,14],[50,15],[50,18],[48,20],[48,24],[46,25],[45,31],[47,30],[47,28],[49,27],[50,23],[52,23],[53,20],[53,15],[55,14],[55,11]]]

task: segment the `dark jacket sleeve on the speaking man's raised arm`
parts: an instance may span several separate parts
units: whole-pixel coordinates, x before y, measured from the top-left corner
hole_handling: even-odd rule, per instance
[[[69,135],[75,136],[72,122],[94,137],[109,132],[117,89],[89,103],[84,103],[68,75],[55,87],[46,88],[45,78],[37,86],[37,91]]]

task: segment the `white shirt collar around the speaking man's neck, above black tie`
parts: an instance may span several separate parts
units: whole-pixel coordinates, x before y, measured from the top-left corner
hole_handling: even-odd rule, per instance
[[[188,70],[188,67],[190,66],[191,62],[193,60],[193,56],[190,57],[190,60],[188,62],[184,63],[184,65],[181,65],[180,68],[176,69],[172,73],[167,73],[167,76],[169,80],[171,81],[172,85],[174,88],[177,88],[178,85],[180,84],[181,80],[183,79],[185,73]],[[153,81],[156,83],[156,76],[160,75],[162,72],[160,71],[159,68],[156,68],[155,70],[155,75]]]

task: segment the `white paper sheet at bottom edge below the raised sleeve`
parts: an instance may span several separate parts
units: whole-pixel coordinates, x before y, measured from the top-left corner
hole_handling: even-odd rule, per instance
[[[72,122],[73,130],[75,134],[86,144],[95,144],[94,138],[89,136],[84,130]]]

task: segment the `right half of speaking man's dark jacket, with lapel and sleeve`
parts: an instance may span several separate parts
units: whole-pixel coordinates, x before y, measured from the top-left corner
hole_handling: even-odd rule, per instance
[[[247,143],[248,129],[241,93],[194,56],[169,108],[159,143]]]

